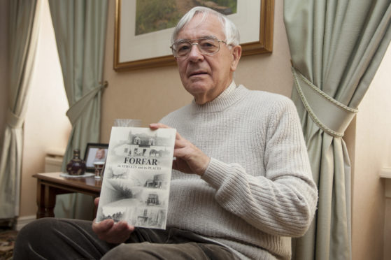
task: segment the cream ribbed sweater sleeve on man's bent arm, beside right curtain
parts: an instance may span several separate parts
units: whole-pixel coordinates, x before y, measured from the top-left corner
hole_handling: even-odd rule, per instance
[[[211,158],[202,179],[216,189],[215,200],[266,233],[303,236],[315,212],[318,191],[296,108],[277,102],[269,110],[264,167],[266,175],[249,175],[239,164]]]

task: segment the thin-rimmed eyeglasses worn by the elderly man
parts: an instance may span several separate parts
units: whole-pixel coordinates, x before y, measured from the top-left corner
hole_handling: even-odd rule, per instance
[[[220,42],[227,44],[225,41],[219,40],[214,36],[206,36],[194,40],[180,40],[171,45],[173,56],[183,58],[189,55],[192,50],[192,45],[197,45],[198,50],[203,55],[214,55],[220,50]]]

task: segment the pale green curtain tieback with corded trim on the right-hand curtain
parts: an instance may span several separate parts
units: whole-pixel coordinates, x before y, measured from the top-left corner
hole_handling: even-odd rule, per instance
[[[331,136],[342,137],[358,112],[336,101],[292,67],[294,85],[315,124]]]

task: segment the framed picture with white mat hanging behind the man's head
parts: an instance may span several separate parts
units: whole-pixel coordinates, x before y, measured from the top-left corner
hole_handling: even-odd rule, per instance
[[[224,13],[236,24],[241,34],[242,55],[273,50],[274,0],[197,0],[197,3]],[[222,3],[224,6],[220,6]],[[115,71],[175,64],[169,48],[173,27],[194,6],[194,1],[116,0]]]

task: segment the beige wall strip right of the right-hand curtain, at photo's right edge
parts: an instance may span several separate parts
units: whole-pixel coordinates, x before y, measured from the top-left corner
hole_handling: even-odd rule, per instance
[[[352,231],[355,260],[383,259],[383,236],[391,233],[390,228],[384,229],[385,180],[379,178],[381,168],[391,168],[390,71],[389,47],[356,119]],[[390,244],[384,250],[388,250],[384,259],[391,259]]]

